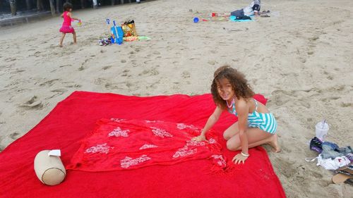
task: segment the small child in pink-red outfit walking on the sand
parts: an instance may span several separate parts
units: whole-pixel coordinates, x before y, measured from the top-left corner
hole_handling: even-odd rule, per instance
[[[64,18],[63,25],[61,25],[60,32],[61,32],[61,38],[60,38],[60,43],[59,46],[63,47],[63,41],[66,33],[72,33],[73,35],[73,44],[76,44],[76,32],[71,26],[71,20],[79,20],[78,18],[73,18],[72,14],[72,4],[66,2],[64,4],[64,13],[61,14],[61,17]]]

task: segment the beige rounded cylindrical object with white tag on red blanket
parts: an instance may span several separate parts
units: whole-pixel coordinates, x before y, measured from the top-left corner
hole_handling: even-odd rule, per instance
[[[66,176],[59,156],[60,150],[44,150],[35,156],[35,174],[45,185],[58,185]]]

